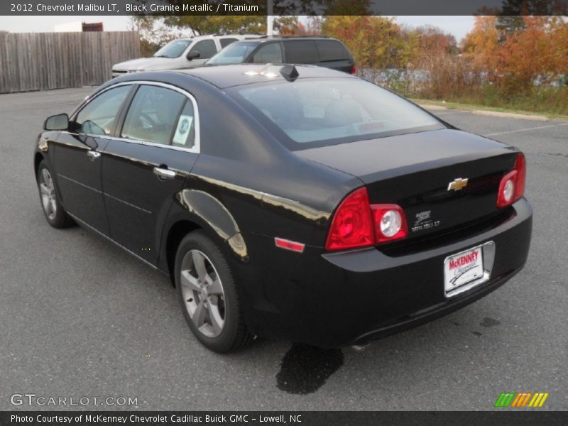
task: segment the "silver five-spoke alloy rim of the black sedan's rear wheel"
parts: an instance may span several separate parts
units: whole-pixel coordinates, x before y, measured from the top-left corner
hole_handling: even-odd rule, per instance
[[[225,324],[225,295],[221,278],[209,258],[197,249],[185,253],[180,268],[185,308],[204,336],[218,337]]]

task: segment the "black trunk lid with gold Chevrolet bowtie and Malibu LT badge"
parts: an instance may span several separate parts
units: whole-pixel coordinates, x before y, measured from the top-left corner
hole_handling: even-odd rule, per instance
[[[361,179],[371,204],[398,204],[406,241],[496,216],[501,178],[514,148],[457,130],[438,130],[295,151],[302,158]],[[451,182],[467,179],[459,190]]]

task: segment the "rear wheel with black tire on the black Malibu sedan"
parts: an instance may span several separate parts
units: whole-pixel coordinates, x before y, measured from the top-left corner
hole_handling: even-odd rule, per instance
[[[183,315],[195,337],[215,352],[236,351],[249,332],[229,263],[204,232],[182,239],[175,256],[175,286]]]

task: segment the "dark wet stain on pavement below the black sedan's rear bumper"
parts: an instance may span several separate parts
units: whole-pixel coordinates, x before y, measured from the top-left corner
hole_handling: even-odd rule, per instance
[[[307,344],[293,344],[282,359],[276,374],[280,391],[305,395],[321,388],[343,365],[341,349],[320,349]]]

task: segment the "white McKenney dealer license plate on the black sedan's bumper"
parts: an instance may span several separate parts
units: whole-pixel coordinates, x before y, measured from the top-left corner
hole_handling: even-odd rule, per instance
[[[446,295],[453,290],[484,276],[484,257],[481,246],[448,256],[444,261]]]

